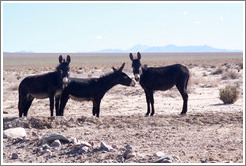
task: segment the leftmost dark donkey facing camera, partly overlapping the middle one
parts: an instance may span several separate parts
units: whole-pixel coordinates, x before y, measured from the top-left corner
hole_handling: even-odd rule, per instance
[[[56,67],[56,71],[42,75],[34,75],[24,78],[19,85],[19,117],[27,116],[34,98],[50,99],[50,114],[53,116],[54,98],[56,100],[56,115],[59,114],[60,95],[68,84],[69,63],[71,58],[68,55],[67,61],[59,56],[60,64]]]

